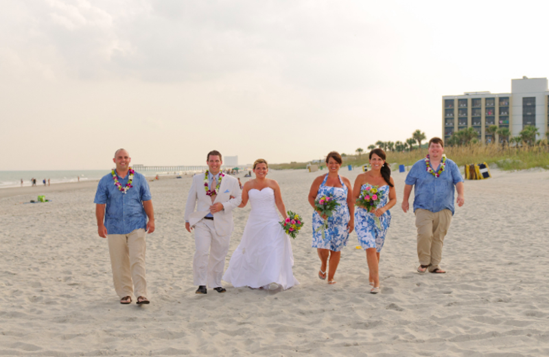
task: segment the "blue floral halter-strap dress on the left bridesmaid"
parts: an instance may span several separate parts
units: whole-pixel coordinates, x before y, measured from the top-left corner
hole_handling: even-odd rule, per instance
[[[338,176],[339,177],[339,176]],[[328,228],[325,230],[325,239],[322,238],[322,232],[316,231],[318,227],[324,224],[324,220],[317,211],[313,212],[313,248],[329,249],[330,251],[340,251],[347,245],[349,240],[349,227],[347,224],[351,219],[349,215],[349,206],[347,206],[347,186],[343,184],[341,177],[339,182],[342,187],[325,186],[328,175],[318,187],[316,199],[323,195],[334,196],[334,199],[340,204],[336,207],[333,216],[328,218]]]

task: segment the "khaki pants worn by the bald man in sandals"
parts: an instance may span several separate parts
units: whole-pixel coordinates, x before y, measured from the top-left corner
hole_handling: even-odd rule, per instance
[[[109,234],[108,253],[113,268],[115,290],[121,298],[148,297],[145,281],[145,229],[136,229],[128,234]]]

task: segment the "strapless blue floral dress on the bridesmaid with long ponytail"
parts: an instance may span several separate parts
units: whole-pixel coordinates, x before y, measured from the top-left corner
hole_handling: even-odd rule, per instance
[[[360,187],[360,191],[366,188],[366,183]],[[377,194],[381,197],[379,200],[379,207],[384,207],[389,202],[389,185],[380,186],[377,189]],[[385,235],[390,225],[390,211],[386,211],[379,217],[382,229],[377,228],[374,220],[375,214],[366,211],[362,207],[356,207],[355,209],[355,231],[358,235],[358,242],[362,246],[362,249],[375,248],[377,253],[382,251],[383,244],[385,243]]]

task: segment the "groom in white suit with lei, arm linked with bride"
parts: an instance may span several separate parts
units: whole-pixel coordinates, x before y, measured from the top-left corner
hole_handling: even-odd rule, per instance
[[[217,292],[225,292],[221,277],[225,256],[233,232],[233,209],[240,205],[242,192],[237,179],[224,175],[221,153],[208,152],[209,170],[193,177],[187,207],[185,207],[185,229],[194,230],[196,251],[193,259],[196,294],[207,294],[206,286]],[[194,208],[198,201],[196,211]]]

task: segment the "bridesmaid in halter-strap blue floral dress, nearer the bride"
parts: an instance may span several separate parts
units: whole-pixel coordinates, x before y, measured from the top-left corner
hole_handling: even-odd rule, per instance
[[[338,268],[341,257],[341,249],[347,245],[349,233],[354,229],[354,205],[353,189],[351,181],[346,177],[339,176],[341,168],[341,155],[332,151],[326,157],[328,173],[318,176],[311,185],[309,191],[309,203],[315,209],[313,213],[313,241],[312,247],[316,248],[320,257],[320,271],[318,277],[326,279],[328,272],[328,284],[336,284],[334,275]],[[336,207],[333,216],[328,218],[328,228],[325,230],[325,238],[322,232],[316,231],[324,224],[324,217],[321,217],[314,207],[314,201],[321,195],[331,195],[340,204]],[[328,266],[329,258],[329,268]]]

